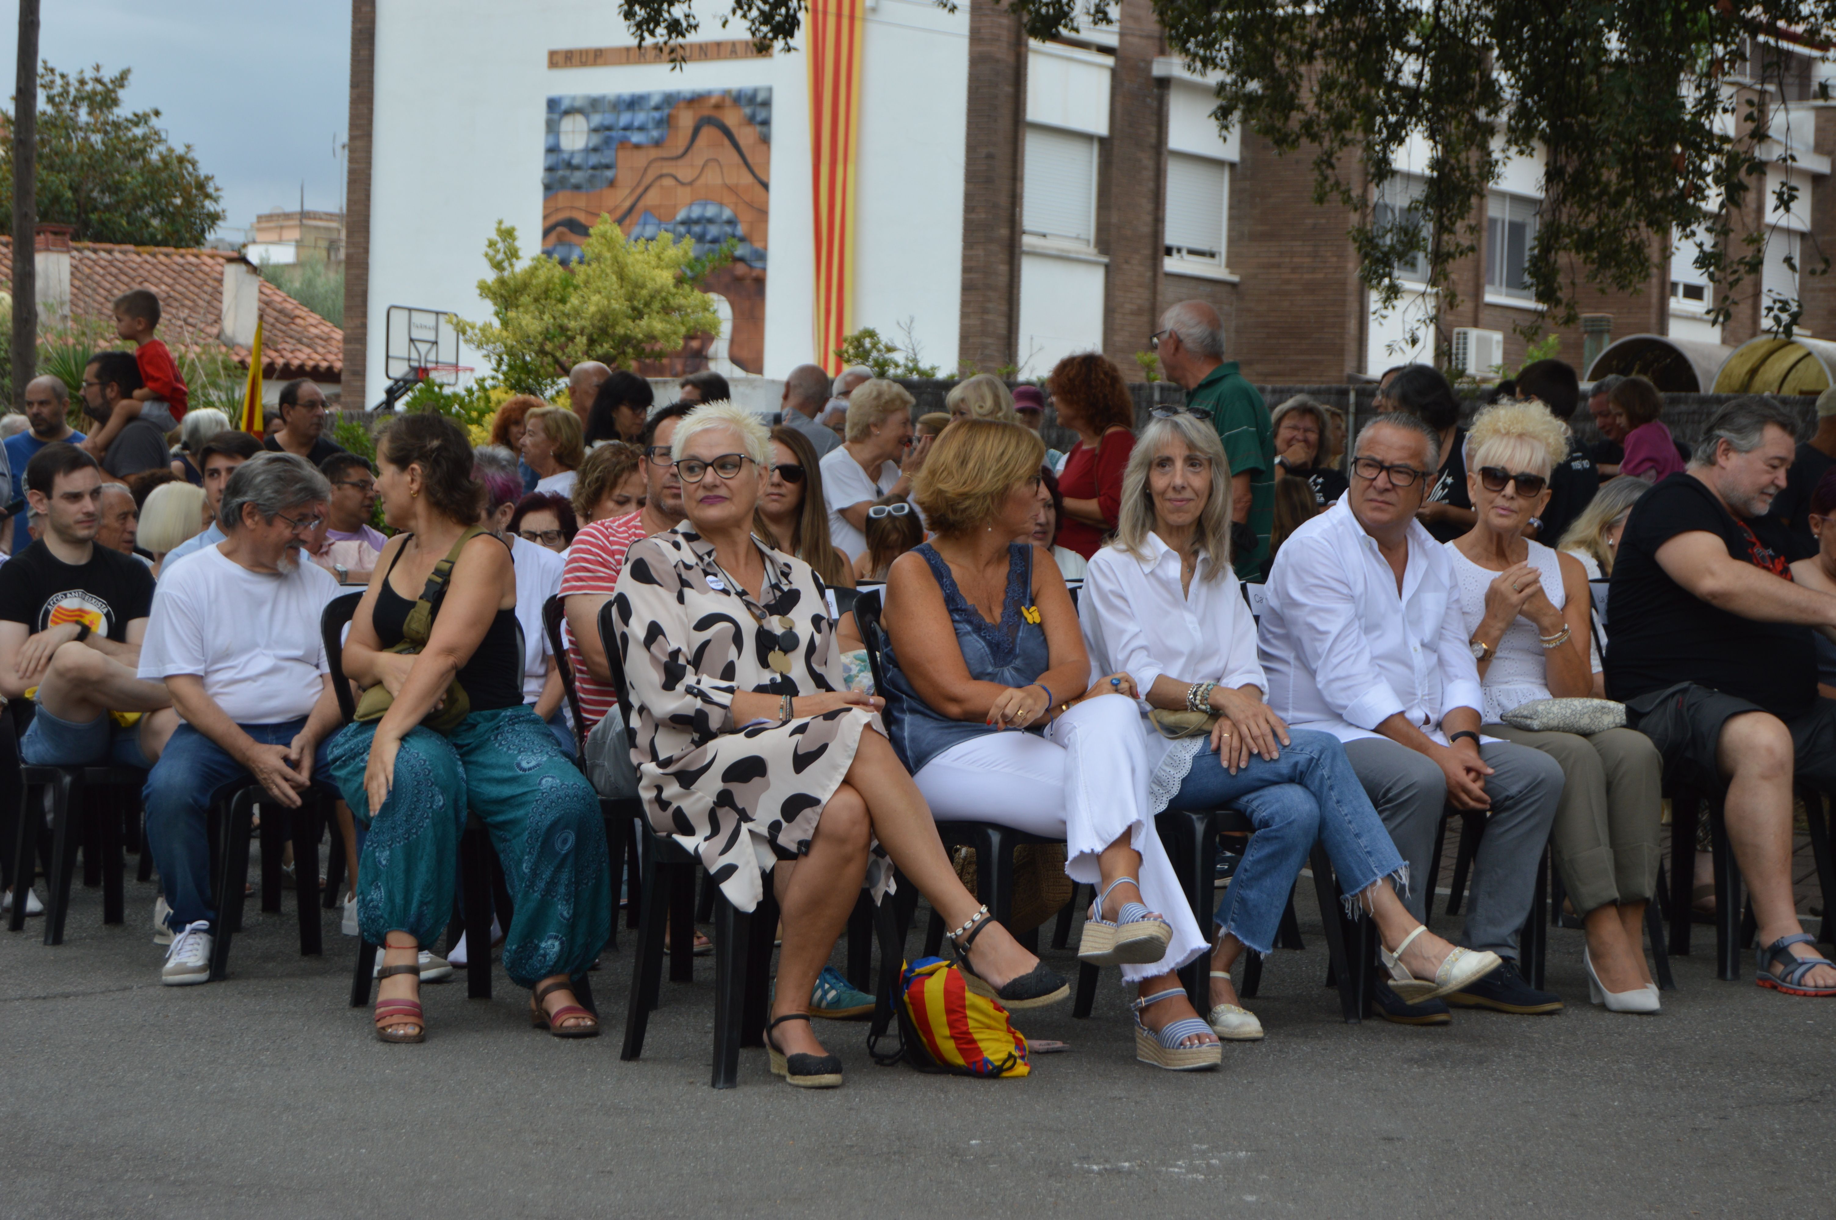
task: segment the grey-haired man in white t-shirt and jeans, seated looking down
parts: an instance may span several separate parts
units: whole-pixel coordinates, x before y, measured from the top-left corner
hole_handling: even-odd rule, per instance
[[[263,453],[230,475],[224,541],[176,565],[152,598],[140,677],[163,681],[185,719],[147,776],[152,849],[174,937],[160,982],[209,982],[211,794],[253,778],[297,809],[314,756],[338,726],[319,615],[338,582],[299,547],[325,517],[330,484],[303,457]]]

